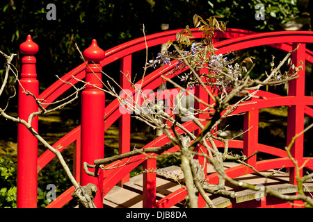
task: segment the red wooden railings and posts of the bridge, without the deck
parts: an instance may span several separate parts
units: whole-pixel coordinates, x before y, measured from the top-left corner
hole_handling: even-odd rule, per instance
[[[195,35],[195,38],[200,38],[202,36],[202,33],[198,31],[198,29],[193,29],[193,34]],[[134,88],[131,88],[129,85],[129,82],[127,81],[127,77],[124,74],[128,74],[128,78],[131,77],[131,54],[145,49],[146,44],[148,47],[156,46],[158,44],[163,44],[168,42],[168,40],[175,40],[176,33],[179,32],[177,30],[175,31],[166,31],[163,33],[157,33],[154,35],[147,35],[146,39],[144,37],[138,38],[136,40],[132,40],[130,42],[126,42],[125,44],[121,44],[120,46],[116,46],[113,49],[107,50],[104,52],[105,57],[104,59],[101,58],[101,56],[94,55],[89,56],[86,55],[88,53],[84,53],[84,56],[87,58],[88,61],[94,61],[98,62],[97,64],[99,67],[104,67],[105,65],[108,65],[111,62],[114,62],[116,60],[120,60],[120,85],[123,89],[127,89],[128,92],[131,92],[131,95],[136,95],[136,90]],[[218,42],[220,38],[225,38],[227,40],[223,40]],[[31,40],[28,40],[31,42]],[[26,42],[27,42],[26,41]],[[253,33],[250,31],[243,31],[238,29],[227,29],[226,33],[220,33],[217,32],[215,36],[216,43],[214,46],[218,49],[217,53],[227,53],[228,51],[236,51],[240,49],[248,49],[250,47],[254,46],[262,46],[262,45],[268,45],[272,46],[277,49],[281,49],[283,51],[290,51],[291,49],[295,49],[298,44],[300,44],[298,50],[292,54],[292,60],[295,64],[299,65],[300,61],[303,62],[310,62],[313,64],[313,53],[312,51],[309,51],[305,48],[305,43],[313,43],[313,34],[312,32],[306,32],[306,31],[284,31],[284,32],[273,32],[273,33]],[[24,61],[26,61],[26,58],[29,58],[29,60],[33,60],[33,54],[35,54],[37,51],[33,50],[33,45],[29,44],[29,51],[26,49],[21,49],[22,53],[26,54],[26,57],[23,58]],[[32,46],[31,46],[32,45]],[[92,46],[95,45],[95,42],[93,42]],[[22,45],[21,45],[22,47]],[[99,48],[97,48],[96,51],[101,51]],[[87,51],[88,52],[88,51]],[[100,53],[101,54],[101,53]],[[179,70],[173,74],[170,74],[170,71],[175,67],[177,64],[177,61],[174,60],[171,62],[171,65],[166,65],[161,67],[160,69],[157,69],[155,71],[152,71],[151,74],[145,76],[142,89],[156,89],[159,85],[161,85],[162,81],[164,81],[161,78],[161,74],[169,74],[167,78],[173,78],[177,76],[178,74],[182,73],[184,70]],[[90,65],[92,65],[90,63]],[[30,70],[27,70],[27,67],[30,67]],[[24,71],[23,71],[24,70]],[[27,70],[27,71],[25,71]],[[94,69],[94,71],[96,71]],[[25,73],[29,73],[28,76],[25,76]],[[65,76],[62,77],[62,80],[70,82],[72,84],[76,84],[77,80],[72,78],[72,76],[75,76],[78,79],[88,78],[89,70],[86,68],[85,64],[79,65],[79,67],[76,67],[75,69],[72,69],[69,73],[65,74]],[[32,65],[27,65],[22,62],[22,79],[31,82],[32,80],[35,80],[35,65],[34,62],[32,62]],[[303,128],[303,118],[304,115],[307,114],[310,117],[313,117],[313,109],[310,108],[308,105],[313,105],[313,97],[312,96],[305,96],[304,89],[305,89],[305,71],[300,70],[298,72],[299,78],[296,80],[292,80],[291,83],[289,83],[289,94],[288,96],[278,96],[275,94],[271,94],[268,92],[262,92],[259,91],[257,94],[259,96],[262,96],[262,98],[266,99],[254,99],[253,101],[255,103],[251,103],[250,101],[246,103],[246,105],[241,105],[239,108],[236,109],[234,113],[244,113],[244,123],[243,123],[243,130],[248,130],[247,133],[245,133],[243,141],[238,140],[232,140],[230,141],[229,147],[230,148],[242,148],[243,153],[245,155],[250,155],[251,153],[254,153],[255,151],[261,151],[263,153],[269,153],[271,155],[277,156],[277,158],[271,159],[271,160],[263,160],[263,161],[257,161],[256,158],[250,158],[248,161],[249,164],[254,166],[258,171],[265,171],[268,169],[279,169],[282,166],[290,169],[290,179],[289,182],[292,184],[296,183],[295,175],[294,175],[294,165],[292,162],[286,157],[287,153],[286,151],[283,151],[279,148],[275,148],[272,146],[266,146],[263,144],[258,143],[258,118],[259,118],[259,109],[262,108],[268,108],[268,107],[275,107],[280,105],[287,105],[289,106],[289,112],[288,112],[288,130],[287,130],[287,143],[291,141],[291,138],[294,137],[297,133],[300,133]],[[90,77],[89,77],[90,78]],[[91,80],[91,82],[94,82],[94,80]],[[141,83],[141,80],[140,82]],[[24,86],[26,90],[32,91],[35,90],[32,87],[29,87],[27,85]],[[65,84],[63,81],[58,80],[56,83],[48,87],[45,92],[42,92],[42,94],[39,95],[40,99],[45,99],[47,103],[51,103],[54,101],[58,96],[63,94],[67,89],[69,89],[71,86],[68,84]],[[102,87],[102,85],[99,85],[99,87]],[[86,89],[88,90],[88,89]],[[93,88],[90,88],[89,90],[97,91]],[[207,97],[207,94],[201,94],[200,92],[203,89],[201,87],[195,87],[195,94],[200,96],[200,99],[203,101],[208,101],[209,98]],[[35,91],[34,91],[35,92]],[[175,95],[174,90],[172,90],[173,94]],[[95,93],[97,94],[97,93]],[[121,96],[126,96],[125,94]],[[101,97],[101,96],[100,96]],[[22,117],[22,113],[25,112],[25,114],[28,114],[30,112],[33,112],[32,109],[27,110],[28,107],[24,107],[21,104],[23,103],[26,96],[21,97],[19,99],[19,108],[26,111],[19,111],[19,117]],[[104,98],[104,96],[102,97]],[[29,99],[29,98],[27,98]],[[94,98],[90,96],[89,99],[87,99],[88,105],[94,105],[96,102],[92,101]],[[83,99],[84,100],[84,99]],[[102,100],[102,99],[100,99]],[[168,100],[169,101],[169,100]],[[99,114],[104,112],[104,105],[100,103]],[[170,103],[169,103],[170,104]],[[197,103],[195,103],[195,106],[198,108],[201,108]],[[47,105],[46,105],[47,107]],[[85,108],[85,105],[82,105],[82,109]],[[203,109],[203,107],[202,107]],[[91,119],[95,118],[93,115],[90,115],[91,111],[86,111],[83,113],[87,113],[82,115],[82,123],[83,119],[86,119],[87,121],[90,121]],[[120,103],[117,99],[110,103],[106,108],[104,112],[104,130],[108,129],[112,123],[114,123],[116,120],[120,120],[120,153],[125,153],[129,151],[130,147],[130,114],[125,113],[121,114],[120,112]],[[103,114],[103,113],[102,113]],[[24,117],[25,118],[25,117]],[[99,117],[97,117],[99,118]],[[33,120],[33,124],[38,122],[37,119]],[[95,124],[99,124],[99,122],[94,121]],[[106,171],[103,171],[103,175],[97,178],[95,181],[95,178],[91,178],[90,176],[86,176],[86,173],[81,170],[81,162],[88,160],[90,164],[93,163],[92,160],[95,158],[99,158],[102,152],[102,146],[104,140],[102,139],[102,136],[98,136],[97,139],[101,140],[97,142],[97,147],[99,147],[98,151],[101,151],[97,155],[95,155],[93,152],[96,152],[95,150],[90,150],[90,148],[87,150],[87,148],[83,148],[84,146],[88,146],[88,144],[83,145],[83,132],[88,132],[90,128],[93,128],[90,124],[85,126],[86,124],[82,124],[82,126],[79,126],[72,130],[70,133],[65,135],[63,138],[61,138],[56,144],[54,144],[54,147],[62,145],[61,151],[64,148],[67,148],[70,144],[74,143],[74,176],[77,178],[78,181],[82,182],[84,180],[83,184],[86,184],[88,181],[93,181],[95,184],[99,185],[100,193],[102,193],[102,182],[103,182],[103,194],[106,195],[112,187],[118,184],[118,182],[126,182],[129,180],[129,172],[138,166],[138,164],[143,163],[145,168],[155,168],[156,162],[153,159],[145,160],[143,155],[138,155],[135,157],[127,158],[127,160],[120,160],[117,162],[114,162],[112,164],[109,164],[106,166]],[[193,122],[186,122],[183,124],[184,127],[187,130],[195,131],[199,130],[198,126],[195,126]],[[251,126],[256,126],[252,127]],[[102,126],[96,126],[98,130],[102,128]],[[177,129],[178,132],[181,132],[182,130]],[[24,132],[24,131],[23,131]],[[103,131],[102,131],[103,132]],[[34,174],[28,173],[31,169],[33,171],[34,169],[34,163],[37,162],[37,154],[35,151],[27,152],[29,155],[31,164],[27,165],[23,162],[23,155],[20,155],[25,151],[26,149],[29,149],[31,147],[37,146],[35,143],[28,143],[26,147],[24,147],[22,144],[25,144],[24,142],[24,136],[22,136],[22,130],[19,130],[19,155],[18,155],[18,163],[21,164],[24,171],[18,170],[18,176],[17,176],[17,206],[18,207],[35,207],[35,194],[29,193],[29,190],[37,189],[35,187],[37,184],[30,185],[29,190],[25,191],[23,186],[25,185],[26,181],[37,181],[37,177],[34,176]],[[25,134],[26,135],[26,134]],[[86,141],[86,139],[85,139]],[[161,137],[158,137],[157,139],[154,139],[152,142],[147,144],[144,148],[150,147],[150,146],[162,146],[163,144],[166,144],[169,142],[166,135],[162,135]],[[221,142],[216,142],[218,146],[224,146]],[[175,147],[172,148],[170,151],[175,151]],[[32,150],[34,150],[32,148]],[[311,157],[303,157],[303,137],[298,137],[296,139],[296,143],[294,144],[292,148],[292,153],[294,157],[296,157],[296,160],[298,160],[299,164],[302,164],[304,161],[306,162],[306,167],[313,169],[313,158]],[[103,154],[103,153],[102,153]],[[46,151],[38,158],[38,166],[37,169],[40,171],[45,165],[51,161],[55,155],[51,153],[51,151]],[[122,165],[123,163],[127,162],[124,167],[118,167]],[[113,168],[112,167],[118,167]],[[245,166],[239,166],[239,167],[233,167],[231,169],[227,169],[227,174],[231,176],[232,178],[235,178],[237,176],[244,175],[246,173],[251,173],[252,171],[250,169],[247,169]],[[23,178],[26,178],[26,180],[23,180]],[[83,179],[86,178],[86,179]],[[102,181],[102,178],[104,179]],[[216,173],[213,173],[211,175],[208,175],[207,178],[209,178],[211,183],[218,182],[218,177]],[[156,186],[155,186],[155,174],[154,173],[145,173],[144,174],[144,185],[143,185],[143,207],[171,207],[172,205],[175,205],[179,201],[183,200],[186,196],[186,190],[185,189],[178,189],[177,191],[173,192],[172,194],[166,196],[165,198],[162,198],[161,200],[157,201],[155,198],[156,193]],[[24,181],[24,182],[23,182]],[[58,196],[56,200],[50,203],[47,207],[62,207],[72,199],[72,192],[74,191],[74,187],[70,187],[65,191],[63,194]],[[97,207],[102,207],[102,196],[99,195],[97,198],[96,203]],[[199,203],[200,207],[203,207],[203,201]]]

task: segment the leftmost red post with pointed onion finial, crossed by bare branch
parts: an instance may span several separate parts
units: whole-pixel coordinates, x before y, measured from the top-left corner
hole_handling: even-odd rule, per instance
[[[29,114],[38,111],[38,105],[32,96],[27,96],[26,91],[38,98],[39,83],[36,79],[36,58],[38,44],[27,35],[27,40],[20,44],[19,51],[24,54],[22,58],[21,79],[22,87],[18,89],[18,117],[28,121]],[[31,121],[31,126],[38,132],[38,117]],[[22,124],[17,126],[17,207],[37,207],[37,158],[38,140]]]

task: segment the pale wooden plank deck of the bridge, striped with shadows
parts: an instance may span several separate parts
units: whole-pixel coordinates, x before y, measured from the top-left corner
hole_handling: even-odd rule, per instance
[[[225,163],[225,168],[234,167],[234,163]],[[214,169],[208,165],[208,172],[213,173]],[[179,167],[172,166],[164,168],[168,171],[176,171],[177,173],[182,170]],[[262,173],[272,173],[273,171],[265,171]],[[184,179],[183,173],[180,174],[180,179]],[[248,174],[236,178],[236,180],[249,182],[252,185],[264,185],[269,186],[272,189],[277,189],[281,194],[296,193],[297,187],[288,183],[289,173],[277,172],[271,178],[263,178],[256,174]],[[157,200],[167,196],[173,191],[181,188],[176,182],[169,180],[163,176],[157,175]],[[209,197],[213,203],[220,208],[228,207],[233,203],[244,203],[248,200],[253,200],[259,196],[256,196],[257,191],[241,189],[234,187],[226,182],[227,190],[236,191],[236,198],[230,200],[228,198],[214,196],[209,194]],[[305,183],[305,189],[313,193],[313,181]],[[259,195],[259,194],[258,194]],[[106,208],[141,208],[143,207],[143,174],[130,178],[129,182],[126,182],[122,187],[115,186],[104,196],[104,207]],[[184,207],[184,201],[173,206],[173,208]]]

